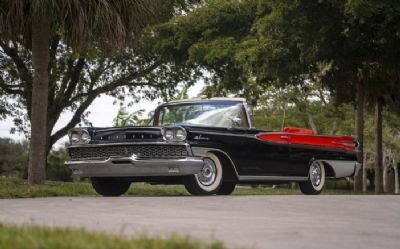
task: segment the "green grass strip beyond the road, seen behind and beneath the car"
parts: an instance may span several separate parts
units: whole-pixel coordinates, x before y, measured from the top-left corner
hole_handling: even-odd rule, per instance
[[[330,184],[332,185],[332,184]],[[329,186],[329,184],[328,184]],[[149,185],[132,184],[128,195],[146,196],[180,196],[189,195],[180,185]],[[287,186],[277,188],[237,187],[234,195],[297,195],[298,188],[289,189]],[[351,190],[327,189],[323,194],[352,194]],[[95,196],[97,195],[89,182],[51,182],[43,185],[29,186],[25,180],[11,177],[0,177],[0,198],[27,198],[47,196]],[[1,247],[0,247],[1,248]]]

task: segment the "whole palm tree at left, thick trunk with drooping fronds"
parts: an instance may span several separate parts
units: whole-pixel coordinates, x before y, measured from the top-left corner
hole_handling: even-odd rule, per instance
[[[33,76],[29,184],[45,180],[47,70],[52,41],[62,39],[78,53],[92,46],[116,52],[155,20],[160,6],[158,0],[0,1],[0,37],[32,48],[33,72],[25,71]]]

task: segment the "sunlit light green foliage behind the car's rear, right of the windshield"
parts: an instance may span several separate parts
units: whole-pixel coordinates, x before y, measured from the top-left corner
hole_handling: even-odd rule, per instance
[[[269,87],[255,109],[257,128],[307,127],[318,134],[354,134],[354,108],[338,104],[329,91],[313,84]]]

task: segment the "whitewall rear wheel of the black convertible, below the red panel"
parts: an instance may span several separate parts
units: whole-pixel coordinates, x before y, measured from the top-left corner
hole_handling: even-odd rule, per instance
[[[325,167],[321,162],[313,161],[308,171],[308,179],[299,182],[300,190],[305,195],[318,195],[325,185]]]

